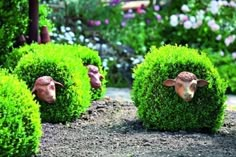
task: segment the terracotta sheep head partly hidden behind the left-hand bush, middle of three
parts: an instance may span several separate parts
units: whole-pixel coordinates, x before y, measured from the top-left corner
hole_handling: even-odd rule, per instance
[[[87,68],[91,86],[96,89],[100,88],[102,86],[103,76],[99,73],[98,67],[95,65],[87,65]]]

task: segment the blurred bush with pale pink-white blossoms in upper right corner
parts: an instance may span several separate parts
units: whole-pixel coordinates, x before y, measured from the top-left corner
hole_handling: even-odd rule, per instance
[[[236,50],[235,11],[234,1],[187,1],[165,19],[164,43],[232,53]]]

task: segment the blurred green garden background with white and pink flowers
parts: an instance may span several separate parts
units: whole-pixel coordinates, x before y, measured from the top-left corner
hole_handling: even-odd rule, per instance
[[[236,93],[235,0],[146,0],[130,8],[127,3],[41,0],[40,25],[49,27],[54,43],[98,50],[108,86],[131,86],[132,69],[151,46],[178,44],[207,53],[228,92]]]

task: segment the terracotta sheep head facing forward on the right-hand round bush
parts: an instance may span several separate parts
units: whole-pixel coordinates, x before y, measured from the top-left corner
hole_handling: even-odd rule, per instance
[[[175,79],[167,79],[163,82],[165,86],[175,87],[175,92],[185,101],[189,102],[194,97],[197,87],[208,85],[203,79],[197,79],[195,74],[183,71]]]

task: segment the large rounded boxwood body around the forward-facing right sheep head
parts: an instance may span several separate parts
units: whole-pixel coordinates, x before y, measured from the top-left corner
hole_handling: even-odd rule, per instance
[[[185,102],[163,82],[189,71],[209,82]],[[152,47],[134,70],[132,99],[147,128],[215,132],[224,120],[226,85],[204,53],[181,46]]]

